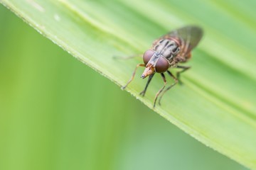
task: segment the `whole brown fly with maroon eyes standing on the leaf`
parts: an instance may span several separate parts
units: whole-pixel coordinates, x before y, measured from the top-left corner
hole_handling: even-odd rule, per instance
[[[155,73],[160,73],[162,79],[164,80],[164,86],[157,92],[154,99],[154,107],[156,106],[156,100],[159,98],[159,104],[161,97],[171,89],[178,82],[181,83],[179,77],[181,72],[186,71],[190,67],[181,66],[180,63],[187,62],[191,58],[191,50],[198,44],[203,36],[203,30],[196,26],[186,26],[173,30],[166,35],[163,35],[161,38],[155,40],[153,45],[149,50],[146,50],[143,55],[144,64],[138,64],[134,73],[132,74],[131,79],[127,82],[122,89],[125,89],[127,85],[134,79],[135,72],[138,67],[146,67],[142,74],[142,79],[149,77],[149,80],[146,83],[144,91],[141,92],[141,95],[144,96],[146,89]],[[177,72],[176,77],[172,74],[169,69],[178,68],[181,71]],[[164,90],[166,86],[166,78],[164,72],[167,72],[169,76],[174,79],[174,84],[171,84],[167,89]]]

